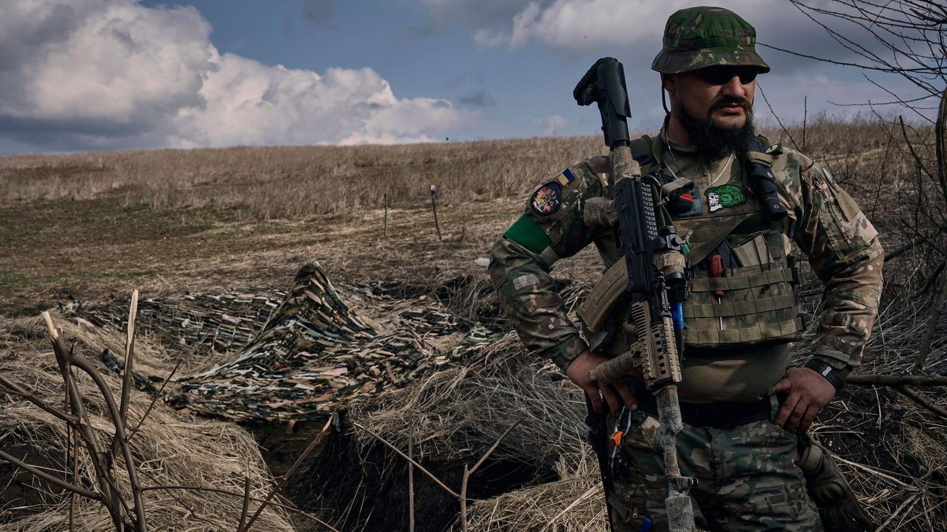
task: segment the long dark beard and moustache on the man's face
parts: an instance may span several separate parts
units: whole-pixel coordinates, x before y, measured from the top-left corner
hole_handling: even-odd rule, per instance
[[[731,103],[740,103],[743,106],[743,114],[746,120],[742,128],[724,129],[714,123],[710,115],[714,111],[723,108]],[[707,111],[705,120],[697,120],[684,108],[681,101],[677,102],[677,120],[688,132],[690,144],[701,153],[708,161],[717,161],[723,159],[730,153],[741,153],[746,151],[750,141],[753,139],[753,109],[745,99],[723,98],[710,107]]]

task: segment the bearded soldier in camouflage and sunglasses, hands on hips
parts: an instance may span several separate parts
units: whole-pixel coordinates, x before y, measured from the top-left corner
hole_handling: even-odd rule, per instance
[[[827,168],[762,137],[769,148],[748,151],[755,80],[770,70],[755,41],[756,30],[727,9],[672,14],[652,63],[670,111],[659,133],[632,143],[642,174],[664,186],[678,234],[691,249],[711,250],[688,264],[678,460],[683,475],[699,480],[690,494],[703,528],[871,530],[831,457],[805,433],[860,364],[884,254],[877,232]],[[772,168],[789,210],[785,221],[762,215],[744,181],[748,159]],[[582,336],[549,275],[557,260],[590,243],[606,268],[616,262],[613,183],[603,177],[609,169],[607,156],[594,156],[537,186],[526,213],[494,244],[490,275],[527,348],[558,364],[596,412],[607,407],[601,448],[612,529],[667,530],[652,394],[639,375],[589,379],[591,369],[630,345],[622,327],[627,305]],[[811,358],[787,369],[791,343],[805,328],[791,241],[824,281],[825,297]],[[719,279],[714,260],[724,269]]]

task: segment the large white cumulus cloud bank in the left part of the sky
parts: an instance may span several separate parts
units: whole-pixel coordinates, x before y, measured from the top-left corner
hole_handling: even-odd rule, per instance
[[[477,115],[397,98],[370,68],[220,54],[197,9],[136,0],[0,6],[0,135],[83,150],[427,141]]]

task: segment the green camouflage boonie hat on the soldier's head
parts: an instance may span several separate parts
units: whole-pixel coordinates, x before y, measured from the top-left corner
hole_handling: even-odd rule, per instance
[[[757,54],[757,30],[729,9],[680,9],[668,18],[664,47],[652,62],[661,74],[680,74],[719,64],[770,68]]]

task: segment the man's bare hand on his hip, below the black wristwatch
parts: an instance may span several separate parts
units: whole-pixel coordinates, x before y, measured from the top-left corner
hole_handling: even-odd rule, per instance
[[[787,431],[804,433],[819,411],[835,397],[835,386],[808,367],[791,367],[770,389],[771,395],[777,392],[788,392],[789,397],[782,401],[773,422]]]

